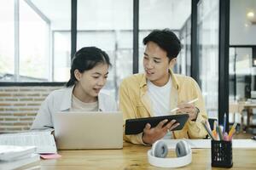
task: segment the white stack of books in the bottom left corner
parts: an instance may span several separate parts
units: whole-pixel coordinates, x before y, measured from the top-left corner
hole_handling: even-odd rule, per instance
[[[0,170],[37,166],[40,156],[35,152],[35,146],[0,145]]]

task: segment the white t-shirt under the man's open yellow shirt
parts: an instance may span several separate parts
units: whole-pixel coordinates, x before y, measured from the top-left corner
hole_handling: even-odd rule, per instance
[[[153,105],[154,116],[166,116],[171,111],[171,86],[172,79],[166,85],[159,87],[148,81],[148,96]]]

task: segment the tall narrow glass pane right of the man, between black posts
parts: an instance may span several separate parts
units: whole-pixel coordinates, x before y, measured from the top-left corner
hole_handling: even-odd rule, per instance
[[[219,1],[204,0],[197,5],[199,75],[209,117],[218,117],[218,18]]]

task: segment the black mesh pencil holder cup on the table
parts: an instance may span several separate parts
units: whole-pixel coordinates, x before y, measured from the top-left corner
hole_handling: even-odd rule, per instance
[[[232,142],[212,140],[212,167],[232,167]]]

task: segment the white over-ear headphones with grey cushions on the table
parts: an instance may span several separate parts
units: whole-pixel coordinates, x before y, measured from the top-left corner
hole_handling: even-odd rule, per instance
[[[155,167],[183,167],[191,163],[192,151],[189,144],[180,140],[176,145],[175,158],[165,158],[168,154],[167,144],[157,140],[151,150],[148,150],[148,161]]]

